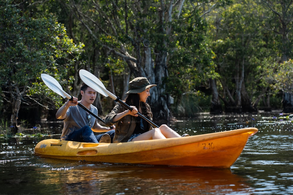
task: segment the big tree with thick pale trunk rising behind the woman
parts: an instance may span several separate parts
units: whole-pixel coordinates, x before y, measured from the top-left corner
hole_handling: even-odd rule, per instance
[[[70,13],[79,21],[74,24],[82,25],[95,45],[95,60],[108,66],[110,78],[117,76],[123,80],[121,94],[126,92],[128,81],[132,77],[147,77],[151,83],[157,84],[149,98],[154,119],[168,121],[171,116],[168,108],[169,92],[166,90],[169,60],[177,50],[184,48],[186,51],[192,44],[196,45],[191,50],[195,53],[188,61],[192,61],[192,58],[200,56],[200,53],[205,51],[205,44],[202,44],[205,24],[198,20],[198,9],[201,6],[193,1],[184,0],[71,0],[68,4],[71,5],[67,6]],[[201,65],[208,64],[204,61]],[[190,67],[194,71],[193,65]],[[177,66],[184,67],[185,64],[180,63]],[[115,72],[117,67],[123,71]],[[98,67],[93,64],[89,68],[96,73]],[[119,75],[115,75],[117,73]],[[118,80],[120,84],[121,80]],[[115,94],[113,84],[117,85],[117,82],[110,79],[109,84]]]

